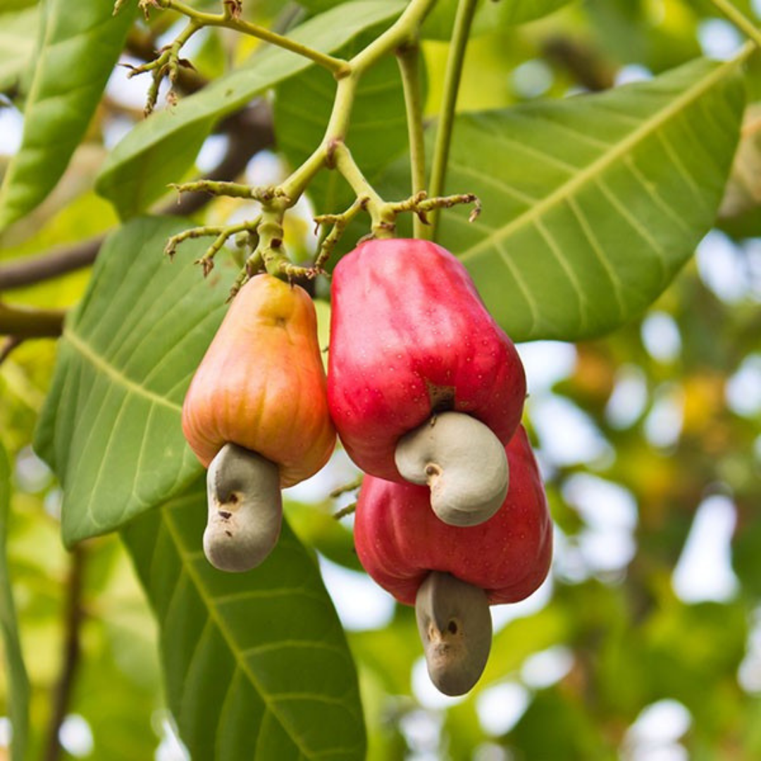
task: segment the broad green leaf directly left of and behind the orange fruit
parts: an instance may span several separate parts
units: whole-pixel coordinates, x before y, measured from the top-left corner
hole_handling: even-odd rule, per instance
[[[64,487],[67,544],[116,529],[199,473],[180,411],[235,271],[226,258],[203,279],[193,266],[202,240],[167,260],[167,237],[186,227],[139,218],[119,228],[66,320],[35,448]]]

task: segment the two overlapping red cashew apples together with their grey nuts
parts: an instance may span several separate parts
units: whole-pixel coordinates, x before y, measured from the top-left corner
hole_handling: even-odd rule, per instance
[[[549,569],[549,512],[520,425],[523,365],[435,244],[361,244],[336,266],[332,301],[330,415],[368,474],[357,553],[415,605],[431,680],[460,695],[489,657],[489,604],[522,600]]]

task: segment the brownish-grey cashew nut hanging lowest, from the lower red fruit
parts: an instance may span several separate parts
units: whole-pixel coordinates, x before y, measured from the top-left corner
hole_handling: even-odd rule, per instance
[[[415,615],[431,681],[444,695],[464,695],[479,680],[492,648],[486,592],[431,571],[418,589]]]

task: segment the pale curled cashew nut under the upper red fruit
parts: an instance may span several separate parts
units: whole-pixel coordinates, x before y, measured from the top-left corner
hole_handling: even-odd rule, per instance
[[[430,486],[431,508],[451,526],[488,521],[508,494],[505,447],[463,412],[442,412],[403,435],[394,461],[404,479]]]

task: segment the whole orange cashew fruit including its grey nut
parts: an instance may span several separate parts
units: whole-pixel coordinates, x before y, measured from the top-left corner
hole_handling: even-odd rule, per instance
[[[183,433],[209,468],[207,557],[253,568],[278,539],[280,488],[317,473],[336,442],[306,291],[272,275],[240,289],[193,376]]]

